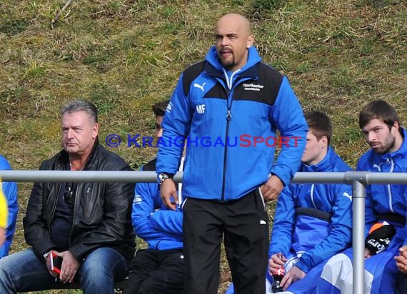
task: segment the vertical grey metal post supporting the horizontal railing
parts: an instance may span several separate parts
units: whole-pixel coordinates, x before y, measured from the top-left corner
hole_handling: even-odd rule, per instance
[[[361,182],[353,180],[353,294],[363,294],[365,285],[365,197],[365,186]]]

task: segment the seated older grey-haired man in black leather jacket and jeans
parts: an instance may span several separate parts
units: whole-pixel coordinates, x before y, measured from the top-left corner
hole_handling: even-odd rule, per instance
[[[98,142],[94,104],[74,101],[61,111],[62,146],[41,164],[50,171],[129,171]],[[114,293],[134,255],[130,183],[34,183],[23,220],[31,248],[0,260],[0,293],[61,288],[78,282],[84,293]],[[51,254],[52,253],[52,254]],[[61,259],[60,273],[52,256]]]

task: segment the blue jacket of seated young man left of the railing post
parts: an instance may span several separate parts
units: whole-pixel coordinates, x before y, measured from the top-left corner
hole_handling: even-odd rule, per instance
[[[345,172],[351,171],[351,168],[336,155],[332,148],[329,148],[328,153],[320,163],[314,166],[303,163],[299,171]],[[309,249],[296,263],[298,268],[308,273],[318,263],[346,249],[351,244],[352,237],[351,196],[351,186],[346,184],[288,185],[278,198],[268,256],[276,253],[283,253],[284,256],[288,256],[293,248],[307,247],[306,244],[299,244],[299,246],[294,244],[298,241],[312,243],[311,248],[308,247]],[[323,228],[326,230],[325,238],[319,238],[320,234],[316,230],[308,230],[306,235],[299,236],[300,238],[295,240],[293,232],[297,231],[297,208],[318,209],[318,211],[331,215],[331,221],[326,222],[327,228]],[[318,225],[320,224],[316,223],[315,228]]]

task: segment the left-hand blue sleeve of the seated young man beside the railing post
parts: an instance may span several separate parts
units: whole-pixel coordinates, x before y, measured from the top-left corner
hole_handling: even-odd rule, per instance
[[[296,203],[293,193],[295,193],[294,186],[288,185],[278,198],[268,258],[276,253],[283,253],[284,256],[287,256],[290,251],[296,221]]]

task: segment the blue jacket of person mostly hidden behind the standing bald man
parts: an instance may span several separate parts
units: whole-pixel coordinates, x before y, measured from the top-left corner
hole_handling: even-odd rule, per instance
[[[155,171],[156,159],[142,171]],[[137,183],[131,221],[134,232],[149,243],[150,249],[182,249],[182,211],[166,208],[158,183]]]

